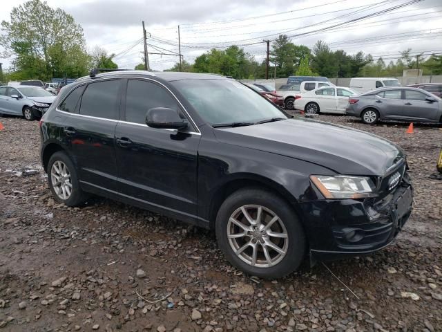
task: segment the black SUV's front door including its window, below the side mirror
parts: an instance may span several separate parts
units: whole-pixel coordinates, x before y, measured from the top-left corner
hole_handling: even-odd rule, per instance
[[[145,123],[153,107],[184,112],[161,84],[128,80],[124,121],[115,131],[118,190],[153,210],[169,210],[191,219],[197,214],[197,160],[200,133],[155,129]]]

